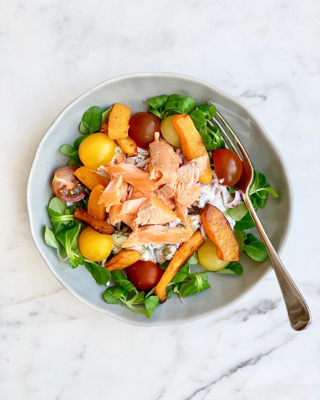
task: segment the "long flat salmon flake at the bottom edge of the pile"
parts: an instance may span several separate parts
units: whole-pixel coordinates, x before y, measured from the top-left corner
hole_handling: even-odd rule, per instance
[[[153,244],[178,244],[186,242],[193,234],[191,217],[187,217],[187,225],[183,227],[166,228],[162,225],[150,225],[132,232],[122,247]]]

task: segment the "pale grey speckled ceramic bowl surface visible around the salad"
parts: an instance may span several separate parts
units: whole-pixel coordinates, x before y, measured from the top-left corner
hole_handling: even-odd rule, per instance
[[[270,198],[266,207],[259,210],[261,222],[279,253],[288,237],[292,220],[292,187],[284,160],[256,116],[232,96],[189,76],[151,72],[106,80],[76,98],[46,131],[32,162],[27,186],[32,238],[51,272],[78,300],[94,310],[139,326],[181,324],[220,312],[248,294],[272,269],[269,260],[257,265],[257,262],[242,255],[242,276],[209,274],[211,289],[185,298],[185,305],[173,296],[170,301],[158,306],[147,320],[144,315],[131,312],[126,307],[107,304],[102,298],[105,286],[96,284],[86,268],[70,268],[68,262],[58,258],[55,249],[45,244],[44,225],[50,224],[46,205],[52,198],[51,181],[54,171],[67,161],[59,149],[64,143],[72,144],[80,135],[78,126],[84,111],[93,105],[106,109],[118,102],[129,106],[134,114],[147,110],[143,100],[164,93],[191,96],[196,104],[212,100],[239,134],[256,169],[266,174],[268,182],[282,199],[277,204]]]

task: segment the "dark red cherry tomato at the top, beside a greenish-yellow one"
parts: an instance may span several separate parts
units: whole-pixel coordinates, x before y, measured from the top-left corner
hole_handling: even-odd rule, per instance
[[[161,133],[159,118],[150,112],[137,112],[130,118],[129,124],[130,138],[145,149],[154,141],[154,132]]]

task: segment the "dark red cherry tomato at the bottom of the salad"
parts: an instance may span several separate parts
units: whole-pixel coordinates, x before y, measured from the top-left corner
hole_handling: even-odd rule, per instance
[[[151,290],[162,275],[162,269],[152,261],[138,260],[127,268],[128,279],[139,290]]]

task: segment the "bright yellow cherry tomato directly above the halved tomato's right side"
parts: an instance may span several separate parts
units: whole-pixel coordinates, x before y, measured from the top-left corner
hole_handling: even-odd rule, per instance
[[[116,142],[105,133],[93,133],[79,146],[79,158],[88,170],[96,171],[100,165],[107,165],[114,156]]]

